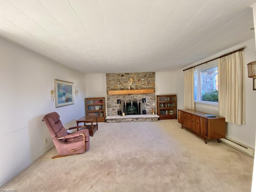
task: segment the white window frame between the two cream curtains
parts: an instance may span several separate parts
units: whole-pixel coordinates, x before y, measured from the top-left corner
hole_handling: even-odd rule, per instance
[[[194,99],[195,103],[203,103],[203,104],[210,104],[210,105],[218,105],[219,104],[218,102],[202,101],[201,100],[201,98],[202,98],[202,96],[201,96],[201,72],[215,68],[215,67],[218,68],[217,59],[194,68],[194,74],[197,73],[197,85],[196,85],[196,87],[197,87],[196,98],[197,99]],[[195,87],[195,79],[194,79],[194,87]]]

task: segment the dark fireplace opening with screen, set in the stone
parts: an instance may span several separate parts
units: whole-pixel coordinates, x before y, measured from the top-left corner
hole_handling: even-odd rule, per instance
[[[140,115],[146,114],[146,99],[142,100],[118,100],[120,109],[118,115]]]

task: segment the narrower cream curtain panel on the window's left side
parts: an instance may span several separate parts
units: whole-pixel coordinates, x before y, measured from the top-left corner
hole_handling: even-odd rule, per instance
[[[184,72],[184,108],[195,109],[194,102],[194,68]]]

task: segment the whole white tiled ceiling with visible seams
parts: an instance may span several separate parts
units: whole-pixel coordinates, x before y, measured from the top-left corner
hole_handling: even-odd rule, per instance
[[[254,38],[254,2],[0,0],[0,36],[83,73],[174,71]]]

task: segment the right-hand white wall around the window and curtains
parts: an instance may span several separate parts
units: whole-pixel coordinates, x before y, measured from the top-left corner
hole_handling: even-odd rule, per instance
[[[248,40],[244,43],[241,43],[237,46],[234,46],[232,48],[229,48],[227,50],[224,50],[222,52],[219,52],[218,54],[215,54],[209,58],[206,58],[204,60],[198,61],[190,66],[194,66],[196,64],[200,64],[202,62],[205,62],[207,60],[216,58],[218,56],[221,56],[222,54],[226,54],[228,52],[234,51],[236,49],[239,49],[241,47],[246,47],[244,50],[244,60],[245,60],[245,102],[246,102],[246,125],[234,125],[231,123],[227,123],[226,126],[226,136],[229,138],[232,138],[238,142],[241,142],[242,144],[245,144],[247,146],[250,146],[252,148],[255,147],[255,128],[256,128],[256,121],[255,121],[255,108],[256,108],[256,91],[252,90],[252,78],[248,78],[248,72],[247,72],[247,64],[249,62],[254,61],[255,58],[255,44],[254,39]],[[188,66],[188,67],[190,67]],[[176,76],[176,93],[180,95],[180,97],[184,94],[184,72],[182,70],[178,70],[175,73]],[[178,108],[184,108],[184,100],[181,99],[178,100]],[[196,103],[196,110],[211,113],[218,115],[218,106],[212,106],[208,104],[200,104]]]

